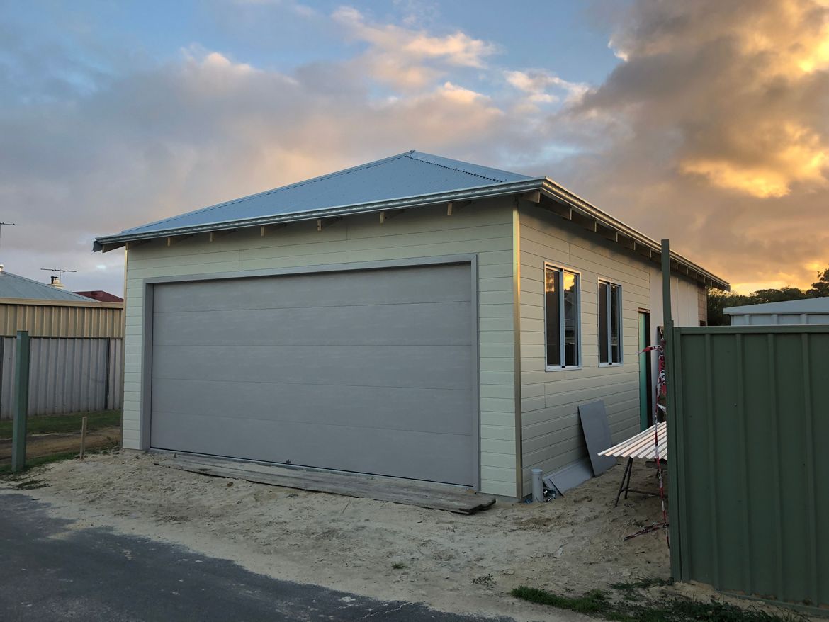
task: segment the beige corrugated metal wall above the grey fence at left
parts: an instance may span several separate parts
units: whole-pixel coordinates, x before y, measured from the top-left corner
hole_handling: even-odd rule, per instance
[[[32,337],[123,338],[123,305],[0,304],[0,334]]]

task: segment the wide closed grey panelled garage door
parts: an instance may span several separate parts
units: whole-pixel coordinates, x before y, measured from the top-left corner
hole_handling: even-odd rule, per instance
[[[153,288],[151,445],[477,482],[469,264]]]

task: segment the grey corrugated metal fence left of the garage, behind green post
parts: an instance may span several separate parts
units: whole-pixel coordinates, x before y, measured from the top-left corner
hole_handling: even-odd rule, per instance
[[[15,339],[2,338],[0,418],[14,399]],[[122,406],[121,339],[32,338],[29,415],[104,411]]]

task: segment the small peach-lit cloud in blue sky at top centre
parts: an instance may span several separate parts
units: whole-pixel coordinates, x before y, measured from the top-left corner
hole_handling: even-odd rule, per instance
[[[403,90],[421,89],[452,68],[480,69],[497,46],[456,31],[433,36],[395,24],[367,22],[354,7],[340,7],[332,18],[352,39],[368,44],[356,60],[367,75]]]

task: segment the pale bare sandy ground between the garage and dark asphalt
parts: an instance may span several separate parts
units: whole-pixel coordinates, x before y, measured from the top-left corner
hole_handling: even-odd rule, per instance
[[[114,454],[51,464],[32,473],[48,485],[31,493],[74,527],[111,527],[279,579],[458,613],[587,620],[509,592],[527,585],[580,595],[669,576],[664,531],[623,542],[662,514],[657,498],[633,494],[613,508],[622,466],[550,503],[499,500],[463,516],[212,478],[158,462]],[[652,469],[634,469],[633,485],[655,488]],[[680,590],[705,597],[701,588]]]

